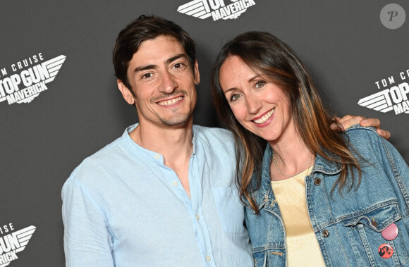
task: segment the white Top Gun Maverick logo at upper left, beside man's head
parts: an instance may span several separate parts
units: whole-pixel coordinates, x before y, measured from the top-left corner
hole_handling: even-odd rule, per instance
[[[49,61],[39,63],[43,60],[42,54],[39,53],[12,64],[11,69],[13,72],[29,66],[30,68],[10,77],[0,76],[0,102],[7,100],[9,105],[30,103],[32,99],[38,97],[40,92],[47,90],[46,84],[54,80],[66,60],[66,56],[57,56]],[[7,75],[6,68],[1,68],[0,72],[2,76]]]

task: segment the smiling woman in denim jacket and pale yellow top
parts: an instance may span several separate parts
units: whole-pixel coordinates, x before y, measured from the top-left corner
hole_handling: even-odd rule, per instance
[[[236,139],[256,266],[409,265],[408,165],[373,128],[331,130],[291,48],[239,35],[216,59],[212,91]]]

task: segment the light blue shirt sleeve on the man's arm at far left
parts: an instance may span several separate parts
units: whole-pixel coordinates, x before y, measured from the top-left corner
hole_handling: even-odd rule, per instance
[[[106,216],[79,181],[68,178],[61,192],[66,266],[114,266]]]

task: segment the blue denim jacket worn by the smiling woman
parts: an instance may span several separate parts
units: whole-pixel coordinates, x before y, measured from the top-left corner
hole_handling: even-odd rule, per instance
[[[366,159],[357,157],[362,169],[359,187],[356,188],[358,172],[354,170],[353,188],[344,188],[341,196],[336,187],[331,194],[341,168],[319,155],[312,173],[305,178],[307,210],[326,266],[409,266],[408,165],[374,128],[355,125],[345,135],[353,147],[351,151]],[[271,190],[270,161],[268,145],[262,163],[262,183],[253,194],[260,213],[246,207],[245,222],[255,266],[286,266],[286,231]],[[350,178],[349,174],[347,185]],[[391,223],[397,225],[399,232],[388,241],[381,231]],[[391,258],[379,256],[381,244],[391,245]]]

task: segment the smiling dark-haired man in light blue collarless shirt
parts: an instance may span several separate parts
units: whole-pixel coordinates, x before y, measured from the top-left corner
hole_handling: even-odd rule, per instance
[[[66,265],[252,266],[232,136],[193,125],[193,39],[142,15],[118,35],[114,67],[140,123],[64,184]]]

